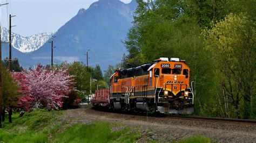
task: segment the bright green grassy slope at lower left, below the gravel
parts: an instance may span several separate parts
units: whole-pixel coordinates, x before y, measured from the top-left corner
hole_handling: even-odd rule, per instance
[[[112,131],[118,124],[95,122],[89,125],[69,125],[57,119],[63,111],[34,110],[13,123],[5,120],[0,129],[0,142],[134,142],[141,133],[132,133],[130,127]]]

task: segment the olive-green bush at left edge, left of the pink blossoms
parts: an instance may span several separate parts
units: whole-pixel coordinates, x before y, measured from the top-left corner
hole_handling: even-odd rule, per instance
[[[18,102],[18,85],[17,82],[11,77],[11,73],[3,67],[3,105],[4,106],[15,106]]]

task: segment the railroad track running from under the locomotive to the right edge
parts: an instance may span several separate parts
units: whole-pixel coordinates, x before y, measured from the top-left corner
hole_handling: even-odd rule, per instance
[[[167,115],[165,118],[176,118],[176,119],[188,119],[188,120],[207,120],[207,121],[221,121],[221,122],[233,122],[233,123],[244,123],[244,124],[256,124],[256,120],[248,119],[233,119],[233,118],[215,118],[215,117],[199,117],[199,116],[177,116]]]

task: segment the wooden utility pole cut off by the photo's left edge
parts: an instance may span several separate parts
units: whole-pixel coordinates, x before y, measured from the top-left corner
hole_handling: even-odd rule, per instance
[[[5,4],[0,4],[6,5]],[[3,89],[2,89],[2,28],[0,30],[0,128],[2,128],[2,112],[3,112]]]

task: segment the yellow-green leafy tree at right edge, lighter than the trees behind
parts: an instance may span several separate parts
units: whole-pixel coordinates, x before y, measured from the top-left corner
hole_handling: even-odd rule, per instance
[[[255,23],[244,14],[237,16],[230,13],[224,20],[212,24],[211,29],[206,28],[202,34],[206,49],[212,52],[219,73],[223,96],[226,98],[227,117],[253,118]]]

